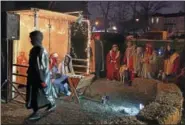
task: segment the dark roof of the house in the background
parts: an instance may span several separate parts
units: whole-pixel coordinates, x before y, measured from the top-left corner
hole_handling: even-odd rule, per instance
[[[185,12],[178,12],[178,13],[169,13],[169,14],[162,14],[162,13],[155,13],[152,15],[153,17],[159,16],[159,17],[179,17],[179,16],[185,16]]]

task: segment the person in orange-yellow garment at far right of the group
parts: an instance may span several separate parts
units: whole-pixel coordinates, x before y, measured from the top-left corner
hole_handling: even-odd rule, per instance
[[[164,54],[164,73],[166,76],[177,75],[179,71],[179,54],[172,49],[170,44],[167,44]]]

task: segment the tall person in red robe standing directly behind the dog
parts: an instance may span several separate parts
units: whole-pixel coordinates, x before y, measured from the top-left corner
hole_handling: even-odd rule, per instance
[[[130,80],[134,79],[134,54],[135,54],[135,46],[133,46],[133,43],[131,40],[128,40],[123,62],[124,64],[126,64],[128,68]]]

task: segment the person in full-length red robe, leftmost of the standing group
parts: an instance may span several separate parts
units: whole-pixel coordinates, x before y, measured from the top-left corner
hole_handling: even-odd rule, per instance
[[[117,45],[113,45],[112,49],[107,54],[107,79],[108,80],[120,80],[120,51]]]

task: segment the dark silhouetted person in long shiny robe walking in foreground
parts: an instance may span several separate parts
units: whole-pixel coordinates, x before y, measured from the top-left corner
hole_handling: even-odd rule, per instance
[[[33,109],[30,120],[39,119],[38,110],[47,107],[46,111],[55,109],[55,98],[57,97],[55,88],[50,82],[49,57],[46,49],[42,46],[43,34],[40,31],[30,33],[30,50],[26,107]]]

